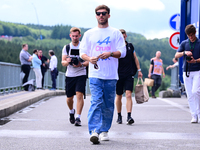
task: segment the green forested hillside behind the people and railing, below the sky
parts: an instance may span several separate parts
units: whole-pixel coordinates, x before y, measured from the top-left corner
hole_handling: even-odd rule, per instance
[[[48,50],[53,49],[58,57],[59,71],[65,71],[61,66],[61,53],[64,45],[70,42],[70,25],[43,26],[34,24],[16,24],[0,21],[0,61],[19,64],[19,53],[21,45],[29,45],[29,53],[33,49],[42,49],[44,55],[48,56]],[[81,28],[83,35],[88,29]],[[39,40],[40,34],[43,40]],[[168,38],[147,40],[143,35],[128,32],[127,41],[133,43],[136,54],[139,58],[144,77],[147,77],[150,59],[155,56],[156,51],[161,51],[164,68],[172,64],[172,58],[176,51],[170,48]],[[12,38],[6,38],[11,36]],[[49,56],[48,56],[49,57]],[[170,70],[166,72],[170,76]],[[167,77],[166,80],[169,80]],[[168,81],[167,81],[168,82]],[[169,86],[169,83],[166,83]]]

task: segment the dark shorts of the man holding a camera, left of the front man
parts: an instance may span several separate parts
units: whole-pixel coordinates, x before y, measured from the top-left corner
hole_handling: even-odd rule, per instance
[[[66,77],[65,78],[65,93],[67,97],[76,95],[76,92],[85,94],[86,76]]]

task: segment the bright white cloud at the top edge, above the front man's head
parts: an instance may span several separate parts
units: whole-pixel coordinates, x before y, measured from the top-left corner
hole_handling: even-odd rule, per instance
[[[164,10],[165,5],[160,0],[95,0],[99,4],[113,6],[117,9],[138,11],[141,9]]]

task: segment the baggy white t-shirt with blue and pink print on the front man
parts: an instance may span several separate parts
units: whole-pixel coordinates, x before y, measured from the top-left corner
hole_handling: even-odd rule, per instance
[[[95,27],[84,33],[80,44],[80,56],[97,57],[103,52],[120,51],[121,57],[126,56],[126,46],[122,33],[115,28]],[[118,80],[118,58],[109,57],[97,61],[99,69],[94,69],[94,64],[89,63],[89,77],[99,79]]]

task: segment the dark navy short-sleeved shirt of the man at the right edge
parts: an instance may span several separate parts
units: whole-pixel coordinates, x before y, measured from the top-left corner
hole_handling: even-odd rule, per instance
[[[195,44],[195,46],[194,46]],[[194,49],[193,49],[194,46]],[[191,42],[191,46],[190,46],[190,41],[189,39],[184,40],[181,45],[178,48],[178,52],[183,52],[183,51],[191,51],[192,50],[192,54],[194,59],[198,59],[200,58],[200,40],[197,38],[196,43],[192,43]],[[184,68],[184,72],[186,72],[186,56],[184,56],[184,63],[183,63],[183,68]],[[188,63],[189,64],[189,63]],[[190,63],[190,71],[199,71],[200,70],[200,63]]]

